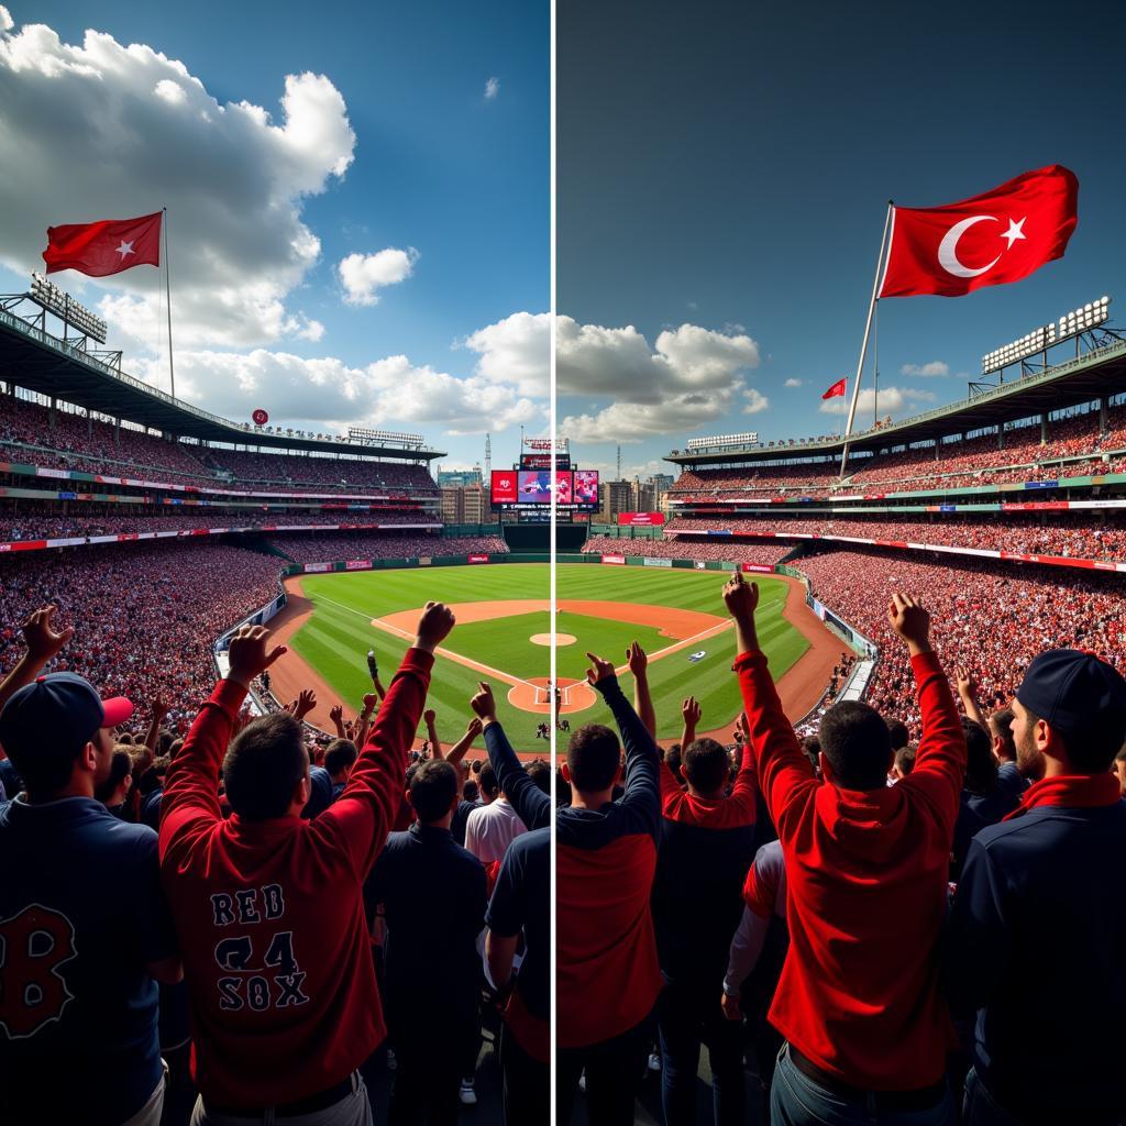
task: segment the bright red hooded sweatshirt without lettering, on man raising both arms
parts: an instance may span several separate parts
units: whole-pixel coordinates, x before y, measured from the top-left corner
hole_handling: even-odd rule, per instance
[[[790,945],[770,1022],[819,1067],[876,1091],[936,1083],[955,1043],[937,948],[966,742],[938,658],[911,665],[923,723],[914,770],[895,786],[848,790],[814,778],[766,655],[735,661],[789,883]]]

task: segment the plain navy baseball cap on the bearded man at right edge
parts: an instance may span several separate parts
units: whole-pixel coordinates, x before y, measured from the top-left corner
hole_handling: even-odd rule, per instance
[[[1078,649],[1051,649],[1035,658],[1017,699],[1064,735],[1126,730],[1126,679]]]

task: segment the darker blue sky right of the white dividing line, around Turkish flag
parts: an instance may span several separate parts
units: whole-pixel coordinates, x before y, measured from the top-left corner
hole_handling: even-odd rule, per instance
[[[881,386],[897,392],[883,402],[901,417],[964,397],[990,349],[1105,293],[1126,301],[1124,86],[1100,46],[1124,30],[1109,3],[1080,17],[717,0],[644,19],[623,0],[561,3],[565,428],[640,438],[623,462],[642,473],[694,435],[831,432],[820,396],[855,369],[888,198],[953,203],[1051,163],[1080,180],[1062,261],[967,297],[882,303]],[[663,395],[645,377],[658,351]],[[633,374],[608,390],[614,367]],[[709,391],[681,401],[694,375]],[[613,441],[574,446],[614,461]]]

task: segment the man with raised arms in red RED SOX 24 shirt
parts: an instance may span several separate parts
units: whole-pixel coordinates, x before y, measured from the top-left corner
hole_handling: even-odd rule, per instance
[[[221,815],[234,720],[251,681],[285,652],[268,649],[262,626],[231,641],[230,672],[172,760],[161,803],[161,868],[191,999],[193,1126],[372,1121],[357,1069],[385,1029],[363,884],[402,802],[434,651],[453,626],[445,606],[427,604],[343,794],[313,820],[301,816],[309,760],[296,723],[277,716],[248,724],[231,747],[233,814]]]

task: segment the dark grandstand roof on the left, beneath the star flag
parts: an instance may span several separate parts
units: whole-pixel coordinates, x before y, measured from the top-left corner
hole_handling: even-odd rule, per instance
[[[431,462],[445,457],[430,446],[365,446],[315,437],[268,434],[232,422],[153,387],[141,379],[0,309],[0,378],[110,418],[126,419],[177,437],[274,449],[354,454],[383,459]]]

